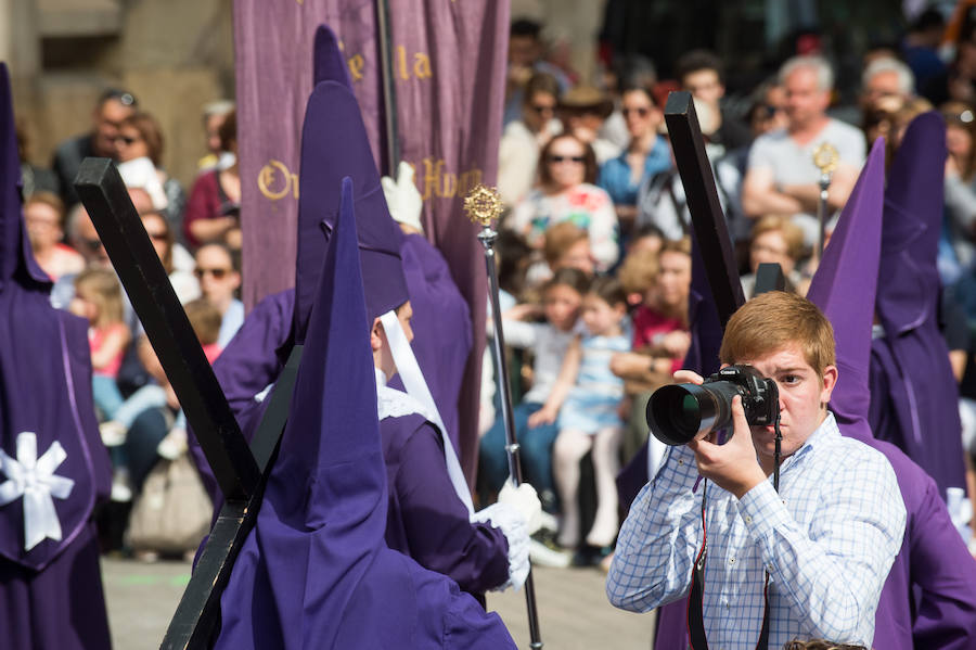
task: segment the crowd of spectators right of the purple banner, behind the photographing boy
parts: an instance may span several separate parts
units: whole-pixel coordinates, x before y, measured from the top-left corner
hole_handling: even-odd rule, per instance
[[[830,60],[804,52],[755,88],[736,89],[750,101],[737,102],[744,110],[735,111],[723,101],[727,66],[711,52],[682,55],[673,79],[658,79],[651,61],[630,56],[617,62],[604,87],[574,85],[573,71],[547,61],[542,26],[513,24],[499,161],[509,239],[500,254],[517,259],[503,266],[514,305],[503,321],[514,334],[508,342],[521,369],[516,386],[525,392],[516,407],[524,462],[553,515],[548,547],[564,549],[560,557],[539,550],[537,561],[563,563],[566,551],[576,551],[575,561],[591,562],[612,551],[607,530],[617,519],[607,514],[604,477],[646,439],[646,399],[672,381],[689,347],[691,224],[664,124],[669,90],[693,98],[746,297],[761,263],[779,263],[793,290],[808,288],[820,238],[819,145],[830,143],[837,157],[825,206],[829,241],[874,138],[884,136],[890,153],[913,117],[939,111],[949,149],[938,259],[945,334],[963,395],[976,396],[968,387],[972,371],[965,372],[976,329],[976,27],[963,26],[946,63],[943,31],[939,14],[929,11],[900,43],[871,48],[857,106],[837,105]],[[619,284],[622,302],[588,306],[608,278]],[[617,331],[611,324],[618,305],[627,341],[620,348],[606,341]],[[599,354],[587,352],[594,340]],[[565,417],[567,395],[585,385],[592,400],[616,405],[599,426],[581,428],[589,418],[579,413]],[[962,402],[969,416],[964,421],[973,423],[964,431],[973,455],[976,402]],[[496,457],[501,428],[500,418],[483,418],[483,499],[504,480],[503,458]],[[595,493],[589,519],[580,517],[577,496],[578,461],[588,453]]]

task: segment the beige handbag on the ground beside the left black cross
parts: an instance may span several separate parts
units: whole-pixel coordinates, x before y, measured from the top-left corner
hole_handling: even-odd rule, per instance
[[[149,473],[129,517],[133,550],[196,550],[210,530],[214,505],[188,453],[162,459]]]

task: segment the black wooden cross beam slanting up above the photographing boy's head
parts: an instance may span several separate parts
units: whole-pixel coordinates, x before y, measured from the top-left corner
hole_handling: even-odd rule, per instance
[[[665,123],[671,149],[684,186],[695,241],[702,254],[705,275],[724,330],[729,318],[745,303],[732,251],[732,240],[715,186],[711,163],[705,153],[705,139],[690,92],[672,92],[665,105]]]

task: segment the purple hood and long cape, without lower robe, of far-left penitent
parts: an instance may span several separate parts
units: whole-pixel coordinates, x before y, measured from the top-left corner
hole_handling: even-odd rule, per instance
[[[76,539],[88,540],[92,508],[107,494],[111,470],[92,406],[88,322],[51,306],[51,281],[27,241],[10,79],[2,64],[0,112],[0,450],[9,457],[0,462],[0,557],[38,571]],[[36,500],[25,502],[24,483],[15,474],[44,457],[60,458],[53,471],[47,463],[39,471],[39,477],[59,476],[62,484],[47,501],[56,528],[44,526],[46,535],[31,543],[27,521],[40,521],[30,515],[41,508]]]

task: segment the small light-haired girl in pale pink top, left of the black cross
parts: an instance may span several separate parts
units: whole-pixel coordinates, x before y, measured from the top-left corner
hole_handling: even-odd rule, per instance
[[[78,273],[69,309],[88,319],[94,403],[101,419],[112,420],[123,404],[115,378],[131,337],[123,320],[121,288],[115,273],[101,268]]]

